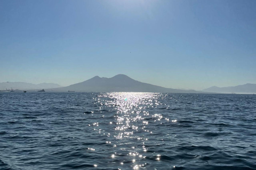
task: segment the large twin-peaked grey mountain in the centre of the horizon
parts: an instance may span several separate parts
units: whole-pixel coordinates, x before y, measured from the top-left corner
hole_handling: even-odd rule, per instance
[[[133,80],[127,75],[118,74],[113,78],[100,78],[95,76],[81,83],[68,87],[47,89],[47,91],[76,91],[76,92],[177,92],[177,93],[202,93],[195,90],[178,90],[155,86]]]

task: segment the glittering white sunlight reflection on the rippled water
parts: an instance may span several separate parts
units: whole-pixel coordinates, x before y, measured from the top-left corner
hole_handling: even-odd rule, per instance
[[[114,120],[108,123],[109,130],[114,129],[114,133],[112,132],[113,135],[108,135],[108,137],[113,141],[113,147],[118,149],[115,151],[119,155],[129,151],[128,158],[123,158],[125,161],[121,160],[120,165],[135,164],[133,169],[139,169],[146,165],[148,149],[145,143],[151,143],[150,139],[154,138],[154,130],[152,127],[148,127],[148,120],[153,118],[154,122],[169,122],[169,117],[163,118],[162,114],[150,113],[147,109],[163,105],[158,101],[159,98],[164,98],[164,96],[158,93],[143,92],[110,92],[99,94],[98,98],[95,98],[95,101],[101,106],[100,110],[115,112]],[[98,122],[93,123],[93,126],[95,125],[98,125]],[[106,133],[108,133],[107,130],[105,130]],[[111,142],[107,141],[106,143],[110,144]],[[110,156],[115,159],[118,154],[110,154]],[[154,153],[154,155],[156,161],[161,160],[159,154]],[[131,157],[130,161],[127,160],[129,157]]]

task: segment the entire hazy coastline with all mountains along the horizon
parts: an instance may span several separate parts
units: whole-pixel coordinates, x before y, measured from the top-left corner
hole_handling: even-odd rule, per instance
[[[37,88],[37,87],[44,88]],[[11,87],[15,87],[13,90]],[[256,94],[256,84],[243,84],[234,87],[210,87],[204,90],[185,90],[172,89],[156,86],[149,83],[143,83],[131,79],[127,75],[118,74],[112,78],[100,78],[95,76],[89,80],[71,84],[67,87],[61,87],[55,83],[41,83],[32,84],[24,82],[4,82],[0,83],[0,92],[23,92],[23,90],[30,92],[42,92],[46,89],[47,92],[171,92],[171,93],[217,93],[217,94]]]

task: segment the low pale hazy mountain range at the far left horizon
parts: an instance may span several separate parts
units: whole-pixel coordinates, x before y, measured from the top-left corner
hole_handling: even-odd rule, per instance
[[[5,89],[19,89],[19,90],[27,90],[27,89],[49,89],[49,88],[59,88],[62,87],[59,84],[54,83],[41,83],[41,84],[32,84],[25,82],[3,82],[0,83],[0,90]]]

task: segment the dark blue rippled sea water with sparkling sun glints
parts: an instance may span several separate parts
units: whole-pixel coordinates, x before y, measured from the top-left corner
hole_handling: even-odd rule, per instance
[[[0,93],[0,169],[256,169],[256,95]]]

